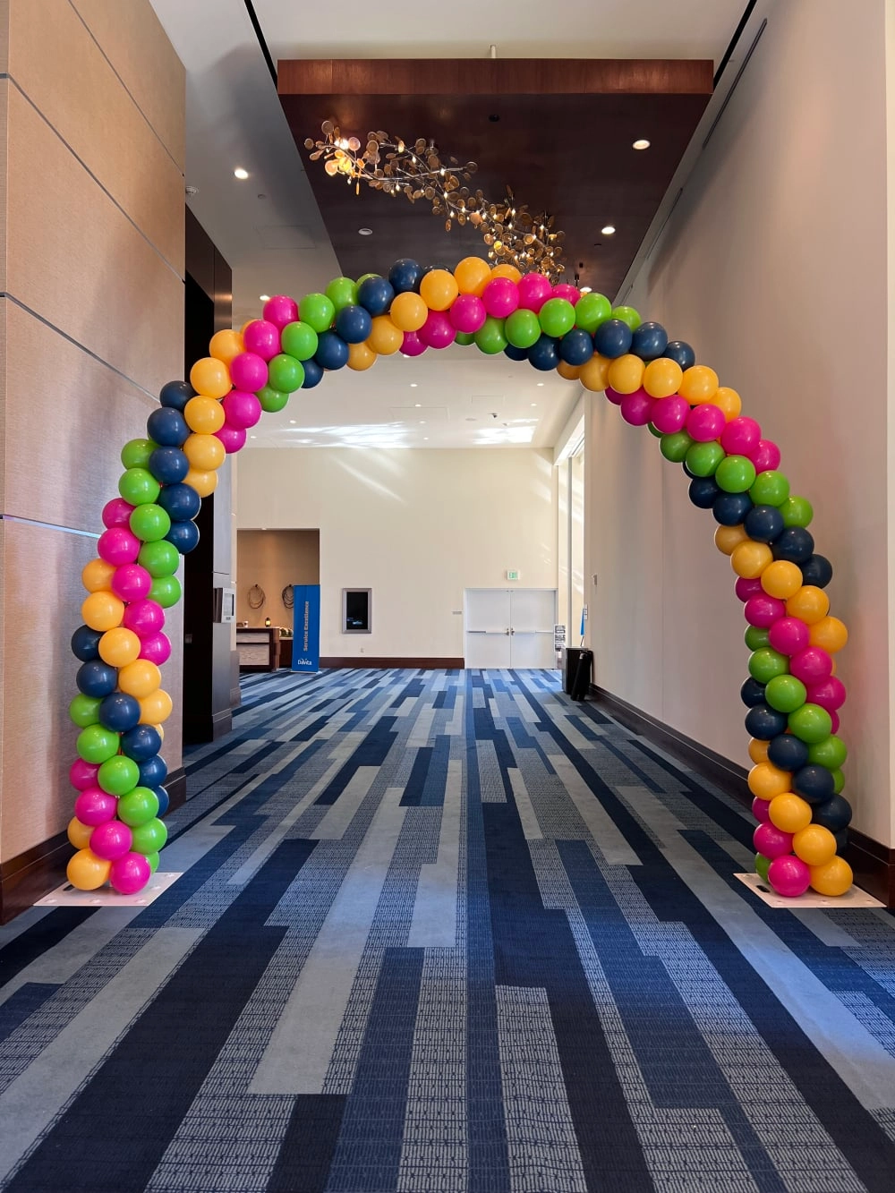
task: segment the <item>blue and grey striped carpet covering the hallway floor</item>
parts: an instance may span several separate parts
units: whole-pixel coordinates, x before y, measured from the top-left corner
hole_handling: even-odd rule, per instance
[[[146,908],[0,929],[16,1193],[891,1193],[895,920],[545,672],[252,676]]]

